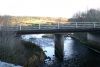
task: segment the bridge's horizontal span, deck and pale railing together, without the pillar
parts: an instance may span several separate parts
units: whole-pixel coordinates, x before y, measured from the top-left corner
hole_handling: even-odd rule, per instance
[[[66,32],[100,31],[100,22],[69,22],[66,24],[34,24],[32,26],[0,26],[1,30],[16,31],[17,34],[44,34]]]

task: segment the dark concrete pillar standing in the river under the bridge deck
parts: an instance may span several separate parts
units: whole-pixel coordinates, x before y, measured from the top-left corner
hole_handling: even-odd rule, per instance
[[[64,36],[63,34],[55,34],[55,57],[63,61],[64,57]]]

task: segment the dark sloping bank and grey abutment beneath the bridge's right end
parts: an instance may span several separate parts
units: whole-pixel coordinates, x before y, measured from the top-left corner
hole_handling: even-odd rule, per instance
[[[99,37],[96,37],[97,36],[96,33],[91,36],[90,36],[90,34],[91,33],[74,33],[74,35],[72,37],[74,39],[80,41],[87,47],[100,53],[100,39],[98,39]],[[100,34],[99,34],[99,36],[100,36]]]

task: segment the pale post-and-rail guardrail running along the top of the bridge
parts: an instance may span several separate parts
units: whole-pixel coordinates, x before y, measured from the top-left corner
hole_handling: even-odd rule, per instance
[[[72,22],[67,24],[37,24],[33,26],[1,26],[0,30],[49,30],[49,29],[90,29],[90,28],[100,28],[100,22]]]

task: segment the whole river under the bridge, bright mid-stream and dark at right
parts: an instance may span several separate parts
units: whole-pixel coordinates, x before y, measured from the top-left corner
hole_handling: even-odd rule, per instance
[[[45,60],[43,67],[100,67],[100,54],[71,37],[64,39],[64,61],[56,62],[54,56],[54,39],[42,38],[42,35],[23,35],[22,38],[38,44],[45,51],[45,54],[49,58]],[[3,63],[2,66],[1,63]],[[8,63],[5,66],[4,62],[0,62],[0,67],[17,66],[11,66]]]

